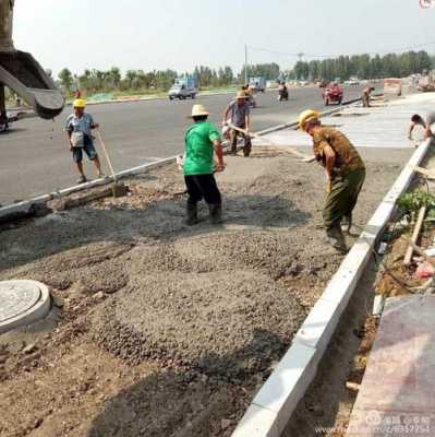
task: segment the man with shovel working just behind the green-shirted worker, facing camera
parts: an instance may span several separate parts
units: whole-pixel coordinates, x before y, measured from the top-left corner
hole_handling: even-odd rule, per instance
[[[231,116],[231,117],[230,117]],[[246,102],[246,94],[243,91],[239,91],[235,96],[235,101],[231,102],[225,113],[222,119],[222,126],[226,126],[227,120],[231,120],[231,125],[238,129],[231,128],[229,130],[229,138],[231,144],[231,152],[233,155],[237,154],[238,137],[242,137],[244,140],[243,155],[250,156],[251,154],[251,137],[250,137],[250,105]],[[241,132],[242,130],[243,132]]]

